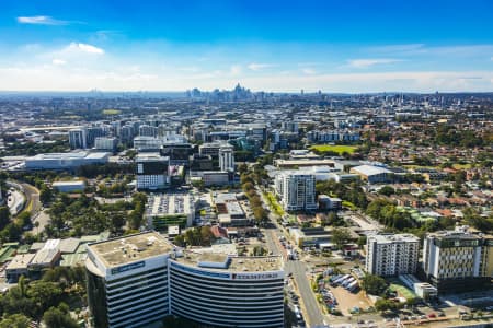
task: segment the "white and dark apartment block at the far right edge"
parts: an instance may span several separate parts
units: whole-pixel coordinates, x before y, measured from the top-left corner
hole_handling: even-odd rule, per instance
[[[423,269],[439,293],[491,284],[493,236],[471,234],[463,226],[427,234]]]

